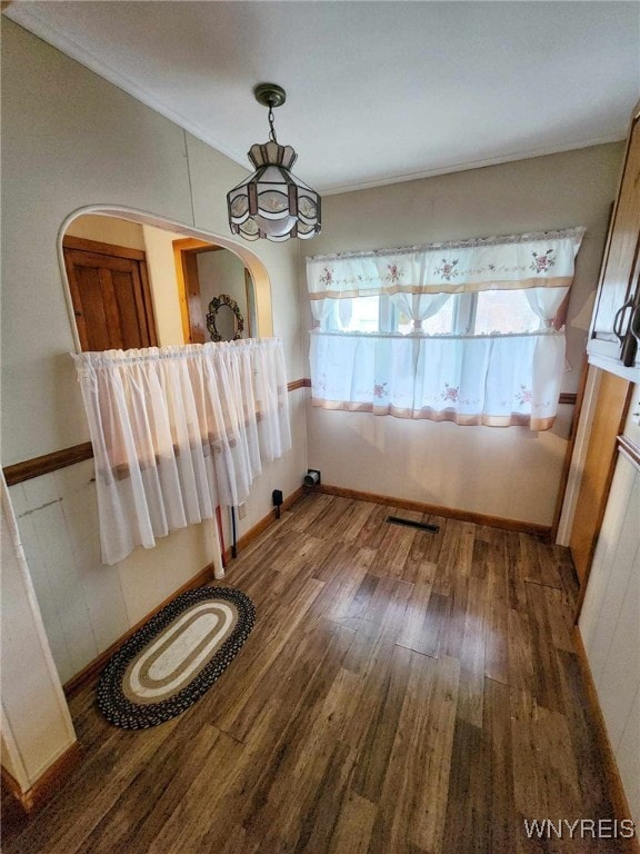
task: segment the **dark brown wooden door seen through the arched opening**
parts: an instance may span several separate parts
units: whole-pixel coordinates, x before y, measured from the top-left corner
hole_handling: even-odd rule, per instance
[[[80,238],[63,250],[82,350],[154,347],[144,252]]]

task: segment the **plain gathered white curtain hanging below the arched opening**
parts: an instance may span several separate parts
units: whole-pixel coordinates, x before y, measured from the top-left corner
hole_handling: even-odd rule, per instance
[[[291,447],[279,339],[74,356],[96,458],[102,559],[249,495]]]

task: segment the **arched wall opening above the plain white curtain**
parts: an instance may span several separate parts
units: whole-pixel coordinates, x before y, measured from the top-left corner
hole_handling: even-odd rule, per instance
[[[59,256],[78,351],[272,335],[267,269],[228,238],[91,206],[64,221]]]

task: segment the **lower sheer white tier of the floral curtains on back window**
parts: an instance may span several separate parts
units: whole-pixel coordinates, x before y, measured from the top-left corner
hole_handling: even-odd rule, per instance
[[[311,334],[312,403],[324,409],[549,429],[564,339]]]

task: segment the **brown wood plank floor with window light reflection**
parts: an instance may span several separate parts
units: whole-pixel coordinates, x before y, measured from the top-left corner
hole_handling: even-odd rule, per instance
[[[8,811],[4,854],[626,851],[524,830],[613,817],[567,549],[308,495],[223,584],[258,613],[229,671],[150,731],[110,726],[83,691],[84,761],[37,815]]]

